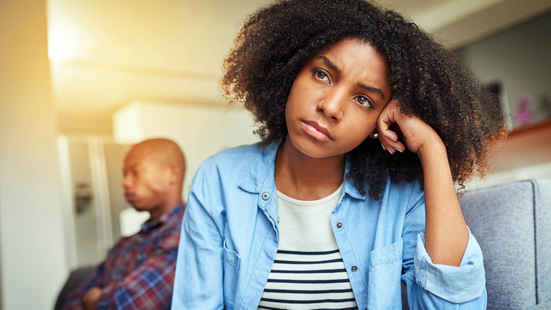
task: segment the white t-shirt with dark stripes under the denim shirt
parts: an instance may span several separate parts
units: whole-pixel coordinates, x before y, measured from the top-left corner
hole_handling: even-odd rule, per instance
[[[342,188],[312,201],[278,191],[278,251],[258,309],[358,309],[331,227]]]

